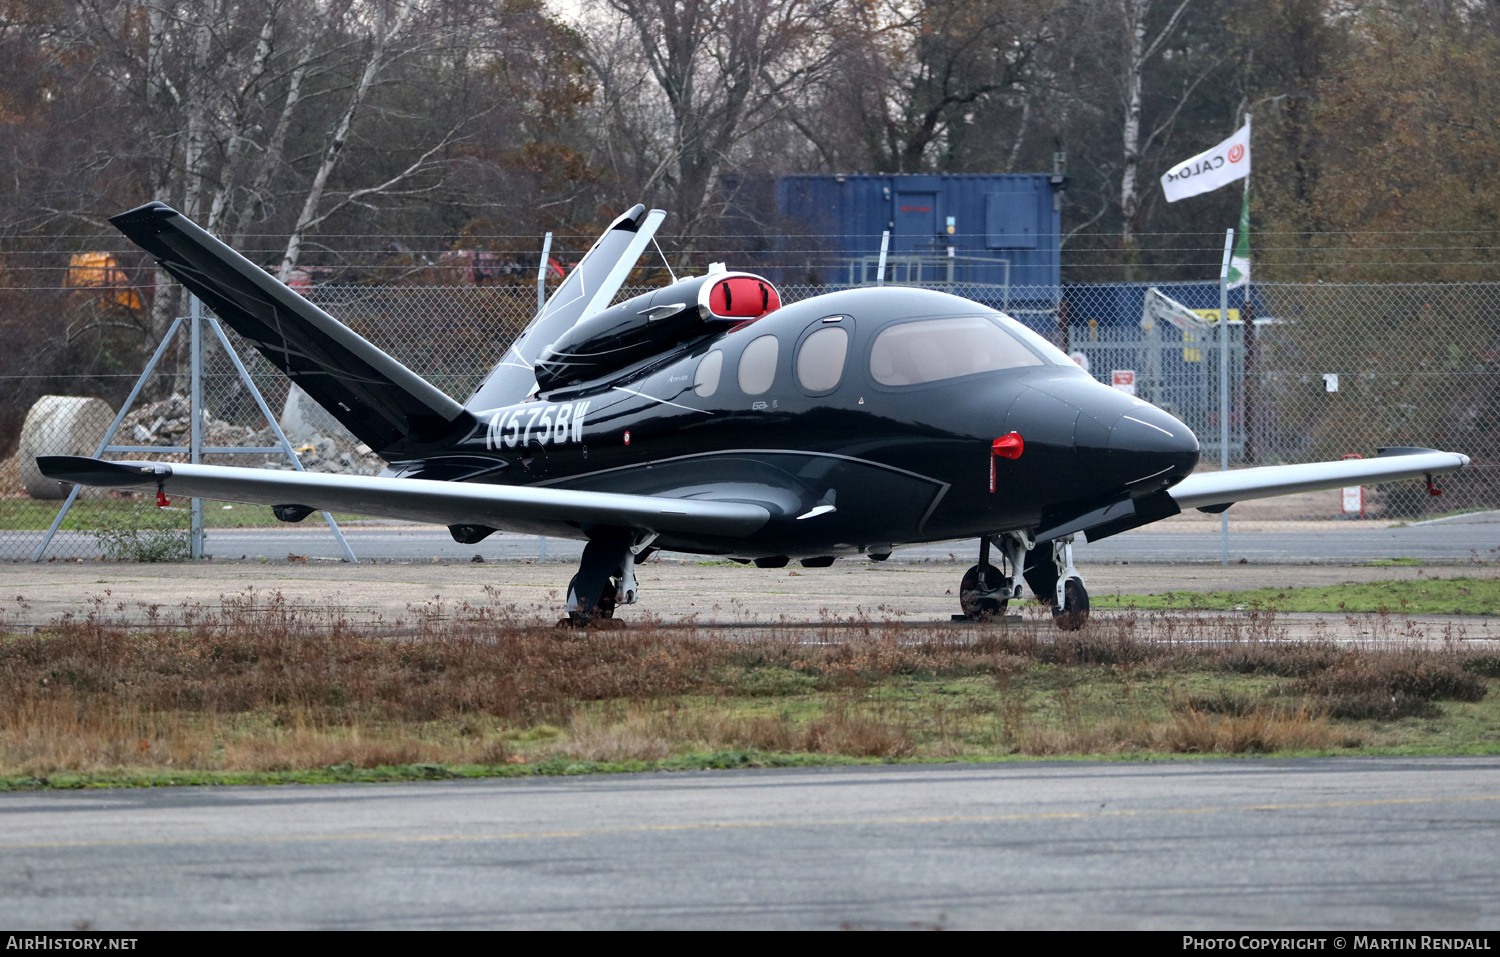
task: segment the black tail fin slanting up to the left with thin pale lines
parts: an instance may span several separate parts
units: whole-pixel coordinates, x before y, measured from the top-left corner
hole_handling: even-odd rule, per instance
[[[162,202],[110,219],[381,456],[462,438],[462,405]]]

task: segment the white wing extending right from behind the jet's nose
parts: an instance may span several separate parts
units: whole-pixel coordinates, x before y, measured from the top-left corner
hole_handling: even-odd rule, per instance
[[[1468,465],[1468,456],[1456,452],[1382,448],[1372,459],[1196,472],[1167,489],[1167,494],[1180,508],[1212,508],[1251,498],[1440,476],[1458,471],[1466,465]]]

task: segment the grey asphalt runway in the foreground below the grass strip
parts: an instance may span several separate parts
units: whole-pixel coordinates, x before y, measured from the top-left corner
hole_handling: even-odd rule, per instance
[[[0,795],[0,926],[1496,928],[1500,759]]]

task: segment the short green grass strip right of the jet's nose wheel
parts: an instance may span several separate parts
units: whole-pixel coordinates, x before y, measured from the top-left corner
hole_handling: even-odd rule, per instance
[[[1500,615],[1500,579],[1444,578],[1318,588],[1164,591],[1146,596],[1098,596],[1090,597],[1090,602],[1094,608],[1137,609]]]

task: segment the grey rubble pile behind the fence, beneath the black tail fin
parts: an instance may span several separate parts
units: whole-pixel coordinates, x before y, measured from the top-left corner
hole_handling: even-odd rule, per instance
[[[188,399],[180,394],[171,394],[160,402],[152,402],[134,410],[120,423],[120,430],[114,436],[114,444],[117,446],[186,446],[189,441],[189,434],[192,423],[188,418]],[[276,434],[270,426],[264,429],[252,429],[250,426],[237,426],[228,423],[222,418],[216,418],[212,412],[202,417],[202,444],[204,446],[252,446],[252,447],[272,447],[276,446]],[[352,442],[344,438],[328,438],[324,435],[310,435],[302,446],[292,446],[297,450],[297,458],[302,459],[302,466],[309,471],[320,472],[342,472],[350,476],[375,476],[382,468],[386,462],[380,456],[372,453],[368,446]],[[244,466],[264,466],[278,470],[291,470],[291,462],[282,454],[267,454],[264,460],[258,456],[248,454],[225,454],[225,453],[204,453],[202,460],[206,465],[244,465]]]

